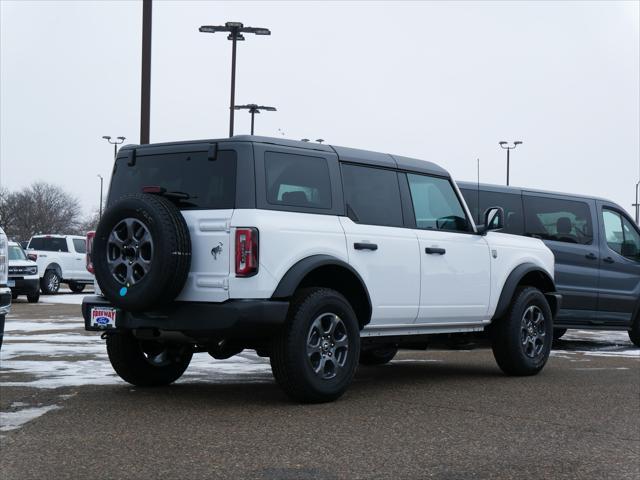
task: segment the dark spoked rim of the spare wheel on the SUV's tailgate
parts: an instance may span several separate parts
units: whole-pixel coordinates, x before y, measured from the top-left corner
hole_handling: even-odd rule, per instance
[[[151,270],[153,238],[147,225],[137,218],[125,218],[107,239],[107,265],[121,285],[140,283]]]

